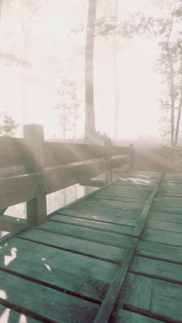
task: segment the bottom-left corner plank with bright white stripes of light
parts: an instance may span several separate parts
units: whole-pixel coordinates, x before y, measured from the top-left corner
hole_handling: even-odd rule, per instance
[[[12,309],[0,305],[0,323],[38,323],[40,321],[32,319],[23,313],[18,313]]]

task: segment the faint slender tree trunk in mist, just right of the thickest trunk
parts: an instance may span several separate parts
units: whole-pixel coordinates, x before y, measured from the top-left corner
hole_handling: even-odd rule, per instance
[[[118,0],[116,0],[115,6],[115,16],[117,18],[118,13]],[[115,99],[115,109],[114,109],[114,137],[119,138],[119,75],[118,75],[118,61],[117,61],[117,36],[113,37],[113,68],[114,68],[114,99]]]

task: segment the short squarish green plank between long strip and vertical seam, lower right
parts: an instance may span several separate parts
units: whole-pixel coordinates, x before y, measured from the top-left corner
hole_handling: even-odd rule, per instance
[[[118,302],[149,311],[152,286],[152,278],[128,273],[121,288]]]

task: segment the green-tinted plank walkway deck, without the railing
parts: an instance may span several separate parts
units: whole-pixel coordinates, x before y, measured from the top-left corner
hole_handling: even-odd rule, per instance
[[[182,174],[134,172],[1,241],[0,322],[182,322]]]

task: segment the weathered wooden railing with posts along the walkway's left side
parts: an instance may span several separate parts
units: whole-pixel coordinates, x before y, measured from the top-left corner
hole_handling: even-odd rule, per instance
[[[43,126],[37,124],[24,126],[23,139],[0,137],[0,151],[0,168],[25,167],[25,175],[0,177],[0,214],[8,206],[26,202],[31,226],[46,221],[47,194],[87,183],[101,173],[108,184],[112,168],[130,164],[132,169],[134,158],[132,144],[112,146],[110,139],[104,146],[44,141]]]

